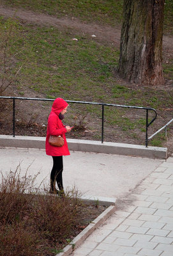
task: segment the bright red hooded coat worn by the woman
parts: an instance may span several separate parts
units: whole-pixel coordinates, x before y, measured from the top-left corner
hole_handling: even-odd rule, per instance
[[[59,119],[59,113],[68,106],[67,102],[61,98],[54,100],[52,105],[52,111],[50,112],[47,124],[47,136],[46,136],[46,154],[48,156],[68,156],[70,152],[66,142],[66,128],[63,122]],[[55,147],[49,144],[50,135],[63,135],[64,145],[63,147]]]

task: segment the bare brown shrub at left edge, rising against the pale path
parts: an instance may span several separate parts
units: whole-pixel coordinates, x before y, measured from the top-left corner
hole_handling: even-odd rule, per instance
[[[19,171],[19,172],[18,172]],[[0,184],[0,222],[1,224],[13,223],[21,220],[31,208],[31,197],[36,193],[34,177],[20,177],[20,165],[15,172],[1,172]],[[26,194],[27,193],[27,194]]]

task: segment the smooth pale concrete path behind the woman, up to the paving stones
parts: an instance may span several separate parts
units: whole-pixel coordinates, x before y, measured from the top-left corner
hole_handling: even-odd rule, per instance
[[[126,197],[126,193],[165,161],[91,152],[70,153],[70,156],[63,157],[64,188],[75,186],[84,196]],[[0,156],[0,171],[3,173],[16,170],[20,164],[21,175],[27,168],[27,173],[32,176],[40,172],[36,186],[43,180],[49,184],[52,157],[47,156],[45,150],[5,147],[0,148]]]

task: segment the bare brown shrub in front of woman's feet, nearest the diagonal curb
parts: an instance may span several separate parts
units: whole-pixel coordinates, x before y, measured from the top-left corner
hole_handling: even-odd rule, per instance
[[[73,196],[71,196],[73,194]],[[32,221],[46,239],[62,241],[71,234],[77,223],[77,193],[66,192],[66,196],[38,195],[34,202]]]

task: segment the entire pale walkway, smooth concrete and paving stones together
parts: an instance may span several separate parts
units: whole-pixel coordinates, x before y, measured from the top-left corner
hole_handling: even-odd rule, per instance
[[[52,159],[45,150],[0,147],[0,170],[49,182]],[[31,164],[31,166],[29,166]],[[73,256],[172,256],[173,157],[167,161],[89,152],[64,157],[65,187],[117,198],[117,211],[87,237]],[[71,255],[72,256],[72,255]]]

